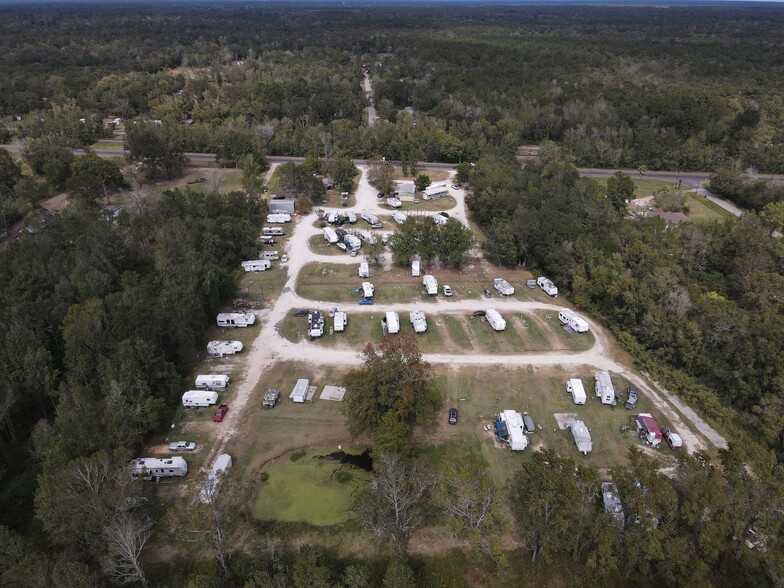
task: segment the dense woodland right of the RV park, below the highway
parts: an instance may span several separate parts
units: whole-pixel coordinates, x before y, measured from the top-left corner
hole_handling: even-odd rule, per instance
[[[550,149],[525,169],[483,159],[470,177],[491,259],[543,272],[622,340],[699,383],[680,393],[715,418],[732,407],[754,438],[784,450],[784,243],[767,221],[630,220]]]

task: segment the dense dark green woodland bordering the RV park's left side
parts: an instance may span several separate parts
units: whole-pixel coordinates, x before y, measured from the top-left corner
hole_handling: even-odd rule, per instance
[[[0,251],[0,524],[37,538],[41,574],[112,559],[109,522],[141,498],[110,472],[170,422],[266,205],[177,190],[137,208],[76,202]]]

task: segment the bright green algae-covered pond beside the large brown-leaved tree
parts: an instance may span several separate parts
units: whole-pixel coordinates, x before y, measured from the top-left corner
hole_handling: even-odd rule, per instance
[[[269,479],[260,484],[253,516],[316,526],[335,525],[348,519],[351,495],[370,479],[370,474],[317,458],[325,453],[306,453],[297,461],[284,461],[270,468]],[[339,482],[338,471],[346,472],[350,479]]]

